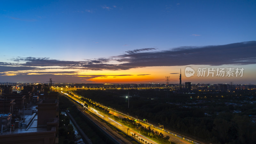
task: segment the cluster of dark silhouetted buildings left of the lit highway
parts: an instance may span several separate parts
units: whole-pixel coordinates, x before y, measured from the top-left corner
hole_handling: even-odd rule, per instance
[[[0,96],[1,120],[8,122],[3,131],[0,129],[0,143],[59,143],[58,92],[40,94],[37,96],[40,100],[37,102],[33,101],[35,85],[24,86],[21,93],[12,94],[9,90],[4,86],[4,94]]]

